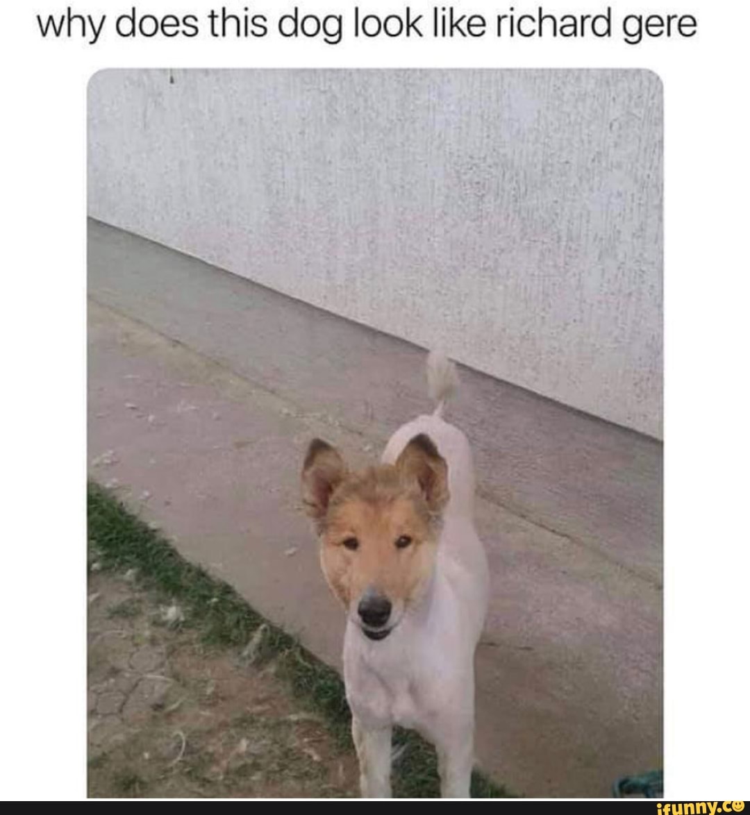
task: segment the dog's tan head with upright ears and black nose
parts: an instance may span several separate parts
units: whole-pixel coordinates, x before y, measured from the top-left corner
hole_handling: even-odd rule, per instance
[[[448,466],[425,435],[395,465],[349,473],[315,439],[302,468],[302,497],[320,535],[320,562],[349,618],[382,640],[430,584]]]

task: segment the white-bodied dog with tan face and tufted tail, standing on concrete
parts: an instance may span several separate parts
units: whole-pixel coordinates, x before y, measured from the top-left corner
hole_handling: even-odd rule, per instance
[[[443,798],[470,797],[489,574],[470,445],[443,421],[455,364],[431,353],[427,381],[435,412],[399,428],[379,465],[350,472],[316,438],[302,466],[323,573],[346,608],[344,683],[365,798],[391,795],[394,725],[435,744]]]

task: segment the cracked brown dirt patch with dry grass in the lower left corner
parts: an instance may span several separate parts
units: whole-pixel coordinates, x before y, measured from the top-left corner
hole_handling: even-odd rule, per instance
[[[207,648],[131,578],[89,576],[90,797],[358,795],[355,756],[273,663]]]

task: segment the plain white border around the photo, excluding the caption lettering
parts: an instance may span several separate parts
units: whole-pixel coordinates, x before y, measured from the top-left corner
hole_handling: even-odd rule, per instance
[[[245,2],[256,11],[294,3]],[[339,11],[349,2],[298,3]],[[10,2],[2,52],[3,799],[77,799],[86,776],[86,81],[113,67],[651,68],[665,114],[665,775],[668,798],[750,799],[748,762],[748,35],[744,2],[686,40],[46,42]],[[132,2],[73,2],[113,13]],[[135,2],[202,14],[211,2]],[[217,3],[215,5],[221,5]],[[403,2],[360,3],[398,10]],[[430,7],[412,2],[412,7]],[[510,3],[455,2],[461,11]],[[516,9],[537,3],[517,0]],[[606,3],[548,2],[549,10]],[[676,8],[677,7],[677,8]],[[623,654],[623,660],[628,655]],[[616,738],[616,734],[613,734]]]

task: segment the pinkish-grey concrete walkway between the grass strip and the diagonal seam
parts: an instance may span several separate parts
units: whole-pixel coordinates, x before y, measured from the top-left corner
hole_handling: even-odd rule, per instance
[[[91,267],[90,296],[116,305]],[[342,612],[298,508],[298,472],[314,435],[360,461],[377,455],[381,435],[240,377],[132,306],[130,316],[109,306],[90,303],[90,475],[339,665]],[[457,410],[449,418],[461,423]],[[607,796],[620,775],[661,765],[659,581],[606,546],[478,504],[493,576],[478,657],[480,763],[523,795]]]

